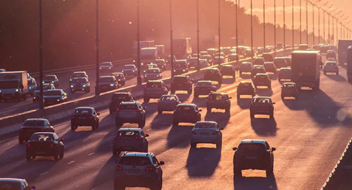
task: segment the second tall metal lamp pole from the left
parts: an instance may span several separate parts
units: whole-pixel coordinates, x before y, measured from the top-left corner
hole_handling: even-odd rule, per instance
[[[96,10],[95,10],[95,21],[96,21],[96,32],[95,32],[95,78],[96,78],[96,84],[95,84],[95,95],[99,96],[100,95],[100,86],[99,86],[99,2],[98,0],[95,0],[96,2]]]

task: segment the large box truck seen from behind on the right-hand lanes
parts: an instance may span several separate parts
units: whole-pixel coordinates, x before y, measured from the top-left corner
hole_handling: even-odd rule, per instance
[[[292,82],[296,83],[298,89],[319,89],[322,65],[319,51],[293,51],[291,55]]]

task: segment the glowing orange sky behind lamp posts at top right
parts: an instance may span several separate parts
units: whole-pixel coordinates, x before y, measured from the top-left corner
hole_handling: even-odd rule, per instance
[[[235,1],[235,0],[232,0]],[[283,14],[283,1],[284,0],[276,0],[276,24],[283,26],[284,23],[284,14]],[[311,0],[312,2],[318,0]],[[332,15],[338,13],[340,10],[342,11],[338,15],[338,19],[346,24],[348,21],[352,19],[352,11],[351,11],[351,2],[352,0],[320,0],[316,4],[318,6],[322,6],[325,3],[330,1],[325,7],[326,10],[330,8],[330,12]],[[306,28],[306,1],[302,0],[302,29]],[[250,0],[240,0],[240,7],[244,7],[248,14],[250,14]],[[337,10],[335,10],[337,8]],[[318,20],[318,10],[314,8],[314,32],[318,34],[319,28],[319,20]],[[299,0],[294,0],[294,28],[298,29],[300,26],[300,16],[299,12]],[[334,11],[334,12],[333,12]],[[253,0],[253,14],[258,16],[259,20],[263,22],[263,0]],[[343,16],[345,14],[346,16]],[[349,16],[348,19],[344,19]],[[341,18],[342,17],[342,18]],[[326,35],[328,33],[328,16],[325,15],[326,20]],[[340,22],[339,21],[339,22]],[[274,0],[265,0],[265,22],[274,23]],[[285,24],[286,27],[292,28],[292,0],[285,0]],[[312,23],[312,6],[308,3],[308,32],[313,30]],[[346,25],[347,26],[347,25]],[[352,29],[352,22],[349,24]],[[320,27],[321,27],[321,35],[323,35],[323,12],[320,12]],[[330,33],[332,31],[332,21],[330,20]],[[336,32],[336,21],[334,21],[334,31]],[[340,35],[340,24],[338,25],[338,35]]]

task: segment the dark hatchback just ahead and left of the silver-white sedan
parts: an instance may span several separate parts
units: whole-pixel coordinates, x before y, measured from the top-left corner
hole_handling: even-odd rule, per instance
[[[174,111],[173,126],[179,123],[195,124],[200,121],[202,110],[195,104],[179,104]]]

